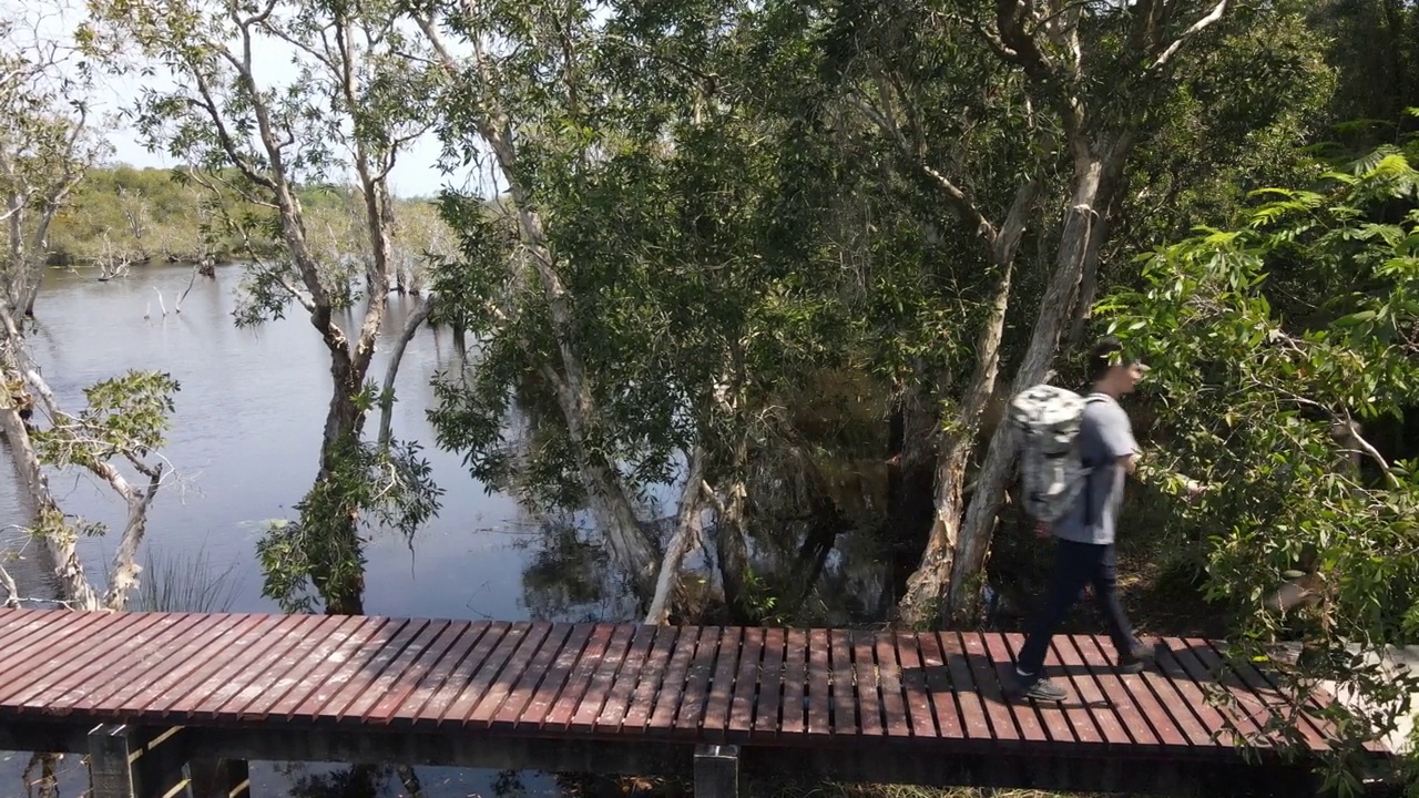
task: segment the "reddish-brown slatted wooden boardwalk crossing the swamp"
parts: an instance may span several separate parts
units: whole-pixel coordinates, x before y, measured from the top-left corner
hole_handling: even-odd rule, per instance
[[[1002,677],[1022,642],[956,632],[4,609],[0,748],[94,750],[95,733],[123,728],[133,734],[126,744],[140,748],[158,730],[180,727],[183,760],[219,753],[660,772],[677,770],[668,761],[677,755],[688,763],[678,751],[736,763],[752,750],[846,778],[893,781],[873,768],[898,763],[910,771],[900,781],[990,784],[1069,781],[1066,771],[1125,772],[1145,763],[1179,772],[1246,767],[1246,747],[1263,764],[1280,763],[1271,721],[1296,706],[1266,673],[1225,662],[1206,640],[1165,640],[1156,670],[1120,676],[1107,640],[1057,636],[1047,670],[1077,697],[1061,706],[1003,697]],[[1209,700],[1213,693],[1229,700]],[[1297,713],[1296,728],[1303,747],[1327,748],[1324,721]],[[481,751],[460,753],[470,741]],[[556,761],[536,764],[543,754]],[[932,758],[945,764],[924,763]],[[1009,763],[1033,763],[1033,775]],[[979,775],[992,767],[1006,768],[1003,781]],[[1064,775],[1042,777],[1042,768]]]

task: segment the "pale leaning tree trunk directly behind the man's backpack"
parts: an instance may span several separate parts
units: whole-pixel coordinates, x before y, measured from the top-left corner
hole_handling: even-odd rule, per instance
[[[1098,257],[1095,236],[1103,233],[1097,226],[1095,207],[1108,204],[1112,183],[1122,169],[1132,145],[1132,138],[1121,136],[1112,146],[1087,149],[1087,156],[1076,158],[1070,207],[1064,213],[1064,227],[1060,233],[1060,248],[1054,260],[1054,275],[1050,280],[1040,314],[1025,351],[1025,359],[1015,372],[1010,393],[1019,393],[1039,383],[1054,361],[1060,337],[1070,318],[1070,310],[1080,278],[1090,257]],[[978,592],[972,588],[985,569],[985,558],[990,548],[990,534],[995,530],[996,514],[1010,481],[1015,466],[1015,432],[1009,423],[995,427],[985,463],[976,481],[971,504],[966,507],[965,523],[961,527],[959,550],[952,564],[946,612],[959,616],[975,603]]]

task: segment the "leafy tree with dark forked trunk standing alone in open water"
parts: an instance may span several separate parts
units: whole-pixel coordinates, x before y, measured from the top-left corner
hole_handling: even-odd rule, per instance
[[[331,405],[315,486],[299,520],[274,527],[261,544],[265,592],[285,606],[360,612],[363,538],[369,514],[404,534],[436,510],[437,488],[413,443],[370,444],[365,419],[377,402],[369,379],[390,288],[393,200],[389,173],[424,131],[427,72],[413,61],[417,40],[397,24],[392,3],[237,3],[236,0],[94,0],[98,33],[135,41],[177,88],[148,88],[138,125],[150,146],[200,169],[214,187],[257,210],[238,230],[264,230],[284,246],[257,258],[244,281],[237,324],[302,308],[331,358]],[[257,47],[284,45],[297,65],[281,81],[257,62]],[[196,175],[197,172],[194,172]],[[362,204],[363,247],[316,246],[299,187],[352,173]],[[231,175],[228,179],[227,175]],[[356,300],[345,267],[363,266],[363,312],[341,321]]]

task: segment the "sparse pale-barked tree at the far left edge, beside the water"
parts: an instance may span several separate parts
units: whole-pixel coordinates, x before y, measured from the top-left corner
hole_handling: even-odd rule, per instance
[[[105,148],[102,131],[89,118],[92,84],[74,45],[10,17],[0,20],[0,111],[7,119],[0,132],[0,213],[7,229],[0,260],[0,429],[31,500],[33,531],[53,555],[62,598],[77,609],[123,609],[138,584],[148,510],[172,477],[156,450],[177,383],[163,373],[131,372],[88,388],[88,408],[71,415],[60,408],[31,358],[26,317],[33,314],[50,257],[50,226]],[[133,469],[142,481],[129,481],[115,461]],[[77,548],[81,535],[105,530],[60,508],[50,491],[50,469],[85,471],[126,505],[106,589],[88,578]]]

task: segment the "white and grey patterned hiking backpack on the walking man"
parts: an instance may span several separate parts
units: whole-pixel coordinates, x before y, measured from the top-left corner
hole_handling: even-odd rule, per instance
[[[1078,452],[1084,406],[1098,396],[1080,396],[1053,385],[1036,385],[1010,399],[1010,423],[1020,430],[1020,496],[1025,513],[1046,524],[1074,507],[1093,469]],[[1086,507],[1086,524],[1093,513]]]

